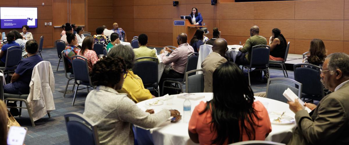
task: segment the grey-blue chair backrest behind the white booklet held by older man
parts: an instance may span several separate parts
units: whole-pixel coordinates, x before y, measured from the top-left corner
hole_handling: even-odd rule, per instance
[[[294,83],[295,85],[298,85],[298,89],[294,86],[290,86],[288,84],[285,83],[273,83],[272,81],[276,81],[276,80],[282,80],[282,81],[289,81],[291,83]],[[302,96],[302,83],[299,83],[295,80],[289,79],[289,78],[270,78],[268,79],[268,83],[267,83],[267,92],[266,92],[266,96],[269,99],[274,99],[274,100],[278,100],[284,103],[287,103],[287,99],[282,95],[283,92],[285,90],[287,90],[287,88],[290,88],[299,98],[301,98]]]

